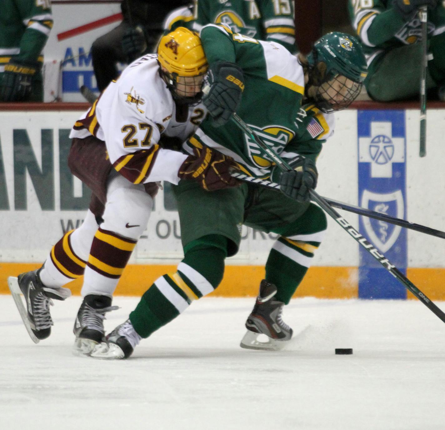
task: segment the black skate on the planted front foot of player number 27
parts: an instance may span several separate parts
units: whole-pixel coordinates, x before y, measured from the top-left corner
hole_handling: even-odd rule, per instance
[[[111,298],[104,295],[89,294],[77,312],[73,332],[76,335],[73,352],[78,355],[89,355],[105,336],[105,313],[118,309],[111,306]]]

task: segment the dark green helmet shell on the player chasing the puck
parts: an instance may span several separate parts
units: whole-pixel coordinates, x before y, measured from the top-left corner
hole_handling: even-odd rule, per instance
[[[324,62],[326,77],[343,75],[354,82],[361,83],[368,75],[368,67],[360,43],[355,37],[346,33],[328,33],[317,40],[307,60],[312,66],[321,61]]]

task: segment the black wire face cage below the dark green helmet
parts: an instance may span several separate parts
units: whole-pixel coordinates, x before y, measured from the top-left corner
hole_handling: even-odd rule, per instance
[[[314,102],[320,111],[331,113],[347,108],[360,94],[363,84],[342,75],[325,79],[318,88]]]

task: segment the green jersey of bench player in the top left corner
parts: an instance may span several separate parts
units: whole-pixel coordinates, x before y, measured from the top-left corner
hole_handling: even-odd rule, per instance
[[[1,0],[0,82],[9,60],[38,61],[53,27],[50,0]],[[36,81],[41,81],[40,73]]]

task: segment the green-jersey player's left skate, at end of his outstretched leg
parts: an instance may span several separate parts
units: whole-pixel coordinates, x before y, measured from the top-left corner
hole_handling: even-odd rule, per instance
[[[131,321],[127,319],[125,323],[117,326],[106,340],[97,345],[91,357],[102,359],[128,358],[133,354],[134,348],[141,341],[141,336],[134,330]]]

